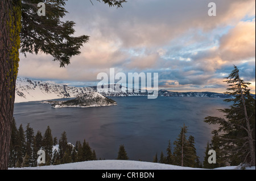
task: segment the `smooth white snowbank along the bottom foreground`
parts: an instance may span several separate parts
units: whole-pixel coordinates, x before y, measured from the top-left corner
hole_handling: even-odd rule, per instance
[[[240,167],[222,167],[218,170],[236,170]],[[247,168],[246,168],[247,169]],[[248,168],[255,170],[255,167]],[[11,168],[10,170],[14,170]],[[56,166],[42,166],[30,168],[15,168],[15,170],[203,170],[190,167],[180,167],[174,165],[166,165],[161,163],[139,162],[139,161],[118,161],[118,160],[104,160],[104,161],[88,161],[68,163]]]

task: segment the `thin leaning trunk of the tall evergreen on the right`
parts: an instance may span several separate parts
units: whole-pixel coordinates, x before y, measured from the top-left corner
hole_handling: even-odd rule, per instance
[[[247,134],[248,134],[248,141],[249,141],[249,148],[250,148],[251,165],[255,166],[255,148],[254,148],[254,144],[253,144],[253,134],[251,132],[250,119],[247,115],[245,98],[243,97],[241,79],[240,79],[239,74],[238,74],[238,81],[239,81],[239,88],[240,88],[241,99],[242,99],[242,104],[243,104],[243,112],[245,112],[245,120],[246,120],[246,127],[247,127]]]

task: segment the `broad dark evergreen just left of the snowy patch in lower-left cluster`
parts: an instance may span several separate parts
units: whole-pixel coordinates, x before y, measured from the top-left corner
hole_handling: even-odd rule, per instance
[[[48,126],[43,136],[43,150],[46,151],[46,162],[52,159],[53,138],[51,128]]]

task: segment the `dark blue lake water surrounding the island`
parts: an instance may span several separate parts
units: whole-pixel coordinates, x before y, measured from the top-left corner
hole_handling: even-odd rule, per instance
[[[96,151],[97,158],[115,159],[119,145],[125,145],[131,160],[152,161],[156,152],[166,153],[168,140],[173,142],[183,123],[187,136],[195,137],[197,155],[203,161],[213,125],[204,123],[206,116],[220,116],[217,111],[227,108],[221,98],[199,97],[114,97],[117,106],[93,108],[51,108],[40,102],[16,103],[14,116],[17,127],[27,123],[36,133],[44,134],[51,127],[53,137],[67,132],[68,142],[85,139]]]

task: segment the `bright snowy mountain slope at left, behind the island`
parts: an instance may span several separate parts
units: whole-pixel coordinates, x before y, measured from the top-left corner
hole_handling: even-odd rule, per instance
[[[28,78],[18,78],[16,80],[15,103],[75,98],[94,91],[90,87],[71,87],[51,82],[34,81]]]

